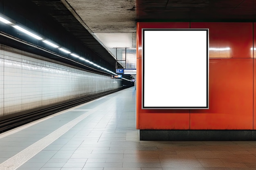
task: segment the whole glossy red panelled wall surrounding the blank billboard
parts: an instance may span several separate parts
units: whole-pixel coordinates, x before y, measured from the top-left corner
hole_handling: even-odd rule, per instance
[[[255,42],[252,22],[138,22],[137,129],[244,129],[256,127],[254,117]],[[141,109],[141,29],[209,28],[209,109]],[[256,48],[256,47],[255,47]]]

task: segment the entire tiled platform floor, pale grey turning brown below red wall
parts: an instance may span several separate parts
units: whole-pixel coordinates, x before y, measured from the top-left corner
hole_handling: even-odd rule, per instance
[[[128,88],[1,134],[0,170],[256,170],[256,141],[139,141],[135,98]]]

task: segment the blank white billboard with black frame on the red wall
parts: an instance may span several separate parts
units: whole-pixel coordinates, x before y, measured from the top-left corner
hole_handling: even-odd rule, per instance
[[[142,29],[142,108],[209,108],[208,29]]]

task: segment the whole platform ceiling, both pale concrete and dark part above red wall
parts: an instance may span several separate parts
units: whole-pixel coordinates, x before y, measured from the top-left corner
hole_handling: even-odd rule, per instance
[[[137,21],[255,20],[254,0],[61,0],[107,48],[136,47]]]

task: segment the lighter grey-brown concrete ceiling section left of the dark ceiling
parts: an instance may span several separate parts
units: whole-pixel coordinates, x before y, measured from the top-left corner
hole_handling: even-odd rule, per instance
[[[61,0],[107,48],[136,47],[135,0]]]

